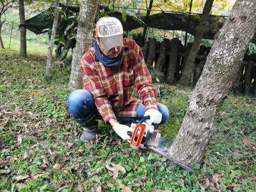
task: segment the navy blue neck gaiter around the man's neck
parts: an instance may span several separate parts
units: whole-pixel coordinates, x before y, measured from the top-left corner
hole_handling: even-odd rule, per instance
[[[93,42],[93,46],[96,52],[97,59],[105,66],[105,67],[113,67],[119,66],[123,62],[123,54],[124,50],[122,48],[120,54],[115,59],[110,59],[106,55],[104,55],[99,48],[97,42]]]

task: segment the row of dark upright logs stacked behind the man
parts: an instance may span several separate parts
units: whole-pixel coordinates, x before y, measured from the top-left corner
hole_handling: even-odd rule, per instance
[[[150,38],[142,49],[148,68],[159,72],[163,81],[173,84],[179,82],[191,45],[188,44],[185,48],[178,38],[164,39],[163,42],[157,42],[155,38]],[[191,72],[191,83],[196,84],[198,81],[210,50],[211,47],[200,46],[195,67]],[[159,79],[159,77],[157,78]],[[244,56],[243,66],[237,74],[234,84],[234,92],[256,97],[256,54]]]

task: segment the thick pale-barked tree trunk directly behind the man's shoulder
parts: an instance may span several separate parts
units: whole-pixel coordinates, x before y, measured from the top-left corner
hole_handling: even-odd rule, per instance
[[[92,46],[93,35],[93,23],[97,12],[97,6],[99,1],[82,0],[79,10],[78,28],[77,28],[77,41],[76,47],[72,54],[72,69],[70,74],[70,80],[68,84],[69,90],[76,90],[83,85],[80,60],[84,52],[86,52]]]

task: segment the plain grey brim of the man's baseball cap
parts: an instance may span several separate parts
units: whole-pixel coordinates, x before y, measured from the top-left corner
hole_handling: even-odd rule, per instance
[[[107,51],[113,47],[123,47],[123,35],[108,36],[99,38]]]

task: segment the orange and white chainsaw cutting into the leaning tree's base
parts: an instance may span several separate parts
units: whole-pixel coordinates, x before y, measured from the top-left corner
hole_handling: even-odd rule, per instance
[[[186,164],[182,164],[170,157],[167,152],[164,152],[164,150],[160,148],[162,140],[161,134],[157,129],[158,125],[147,124],[146,120],[149,118],[150,116],[144,116],[140,120],[131,123],[130,127],[132,127],[134,131],[128,132],[128,135],[131,136],[130,146],[135,150],[139,150],[140,148],[149,148],[157,154],[166,157],[166,159],[172,163],[184,168],[188,172],[195,172],[193,169],[189,168],[189,166],[186,166]]]

